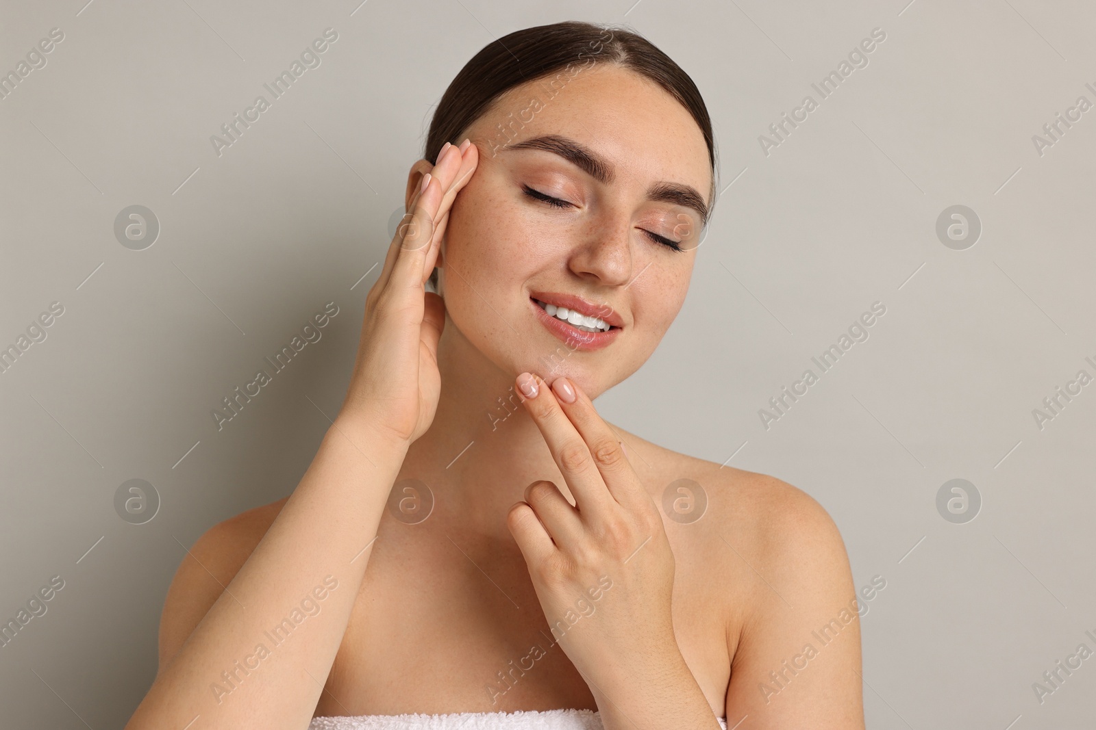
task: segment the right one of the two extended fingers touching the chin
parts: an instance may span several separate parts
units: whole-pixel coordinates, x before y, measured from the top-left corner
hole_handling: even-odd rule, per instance
[[[560,407],[568,419],[582,437],[590,449],[594,465],[605,480],[609,494],[620,502],[642,493],[647,496],[639,476],[628,461],[624,445],[616,438],[613,429],[601,417],[594,407],[594,402],[566,375],[560,375],[551,383],[552,392],[557,394]],[[569,402],[570,401],[570,402]]]

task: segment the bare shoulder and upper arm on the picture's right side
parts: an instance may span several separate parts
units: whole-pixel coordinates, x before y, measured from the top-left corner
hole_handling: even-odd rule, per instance
[[[749,715],[766,728],[863,729],[858,615],[864,606],[845,543],[826,510],[777,477],[616,430],[662,509],[692,590],[726,609],[732,667],[727,716]],[[692,520],[687,509],[697,498],[690,490],[705,500],[705,511]],[[671,514],[674,499],[686,510],[678,519]],[[822,652],[820,669],[799,671]],[[792,683],[795,691],[785,692]]]

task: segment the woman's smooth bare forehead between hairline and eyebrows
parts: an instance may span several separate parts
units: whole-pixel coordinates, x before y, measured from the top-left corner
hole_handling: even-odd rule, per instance
[[[507,144],[549,134],[598,152],[621,182],[682,183],[709,195],[708,147],[693,115],[662,86],[619,66],[575,63],[515,86],[468,136],[494,159]]]

